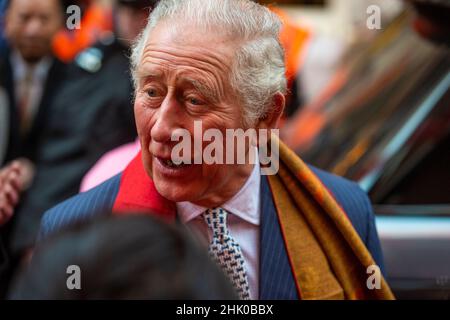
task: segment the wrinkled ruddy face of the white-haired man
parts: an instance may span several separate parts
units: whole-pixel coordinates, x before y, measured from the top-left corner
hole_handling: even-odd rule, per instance
[[[194,136],[194,121],[203,132],[242,128],[242,109],[229,84],[234,43],[217,34],[183,28],[186,36],[160,23],[149,35],[138,67],[135,116],[147,173],[169,200],[211,207],[231,198],[248,178],[252,165],[167,165],[178,142],[176,129]],[[203,145],[204,147],[204,145]]]

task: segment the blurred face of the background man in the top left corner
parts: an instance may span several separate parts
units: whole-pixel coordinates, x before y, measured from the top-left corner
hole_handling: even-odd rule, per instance
[[[62,25],[58,0],[12,0],[5,20],[5,35],[22,57],[34,63],[51,52],[53,36]]]

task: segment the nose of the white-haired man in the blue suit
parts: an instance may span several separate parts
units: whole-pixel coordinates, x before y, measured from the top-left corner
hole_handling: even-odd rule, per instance
[[[158,109],[157,119],[151,129],[152,140],[160,143],[171,141],[172,133],[179,128],[180,106],[176,98],[167,95]]]

